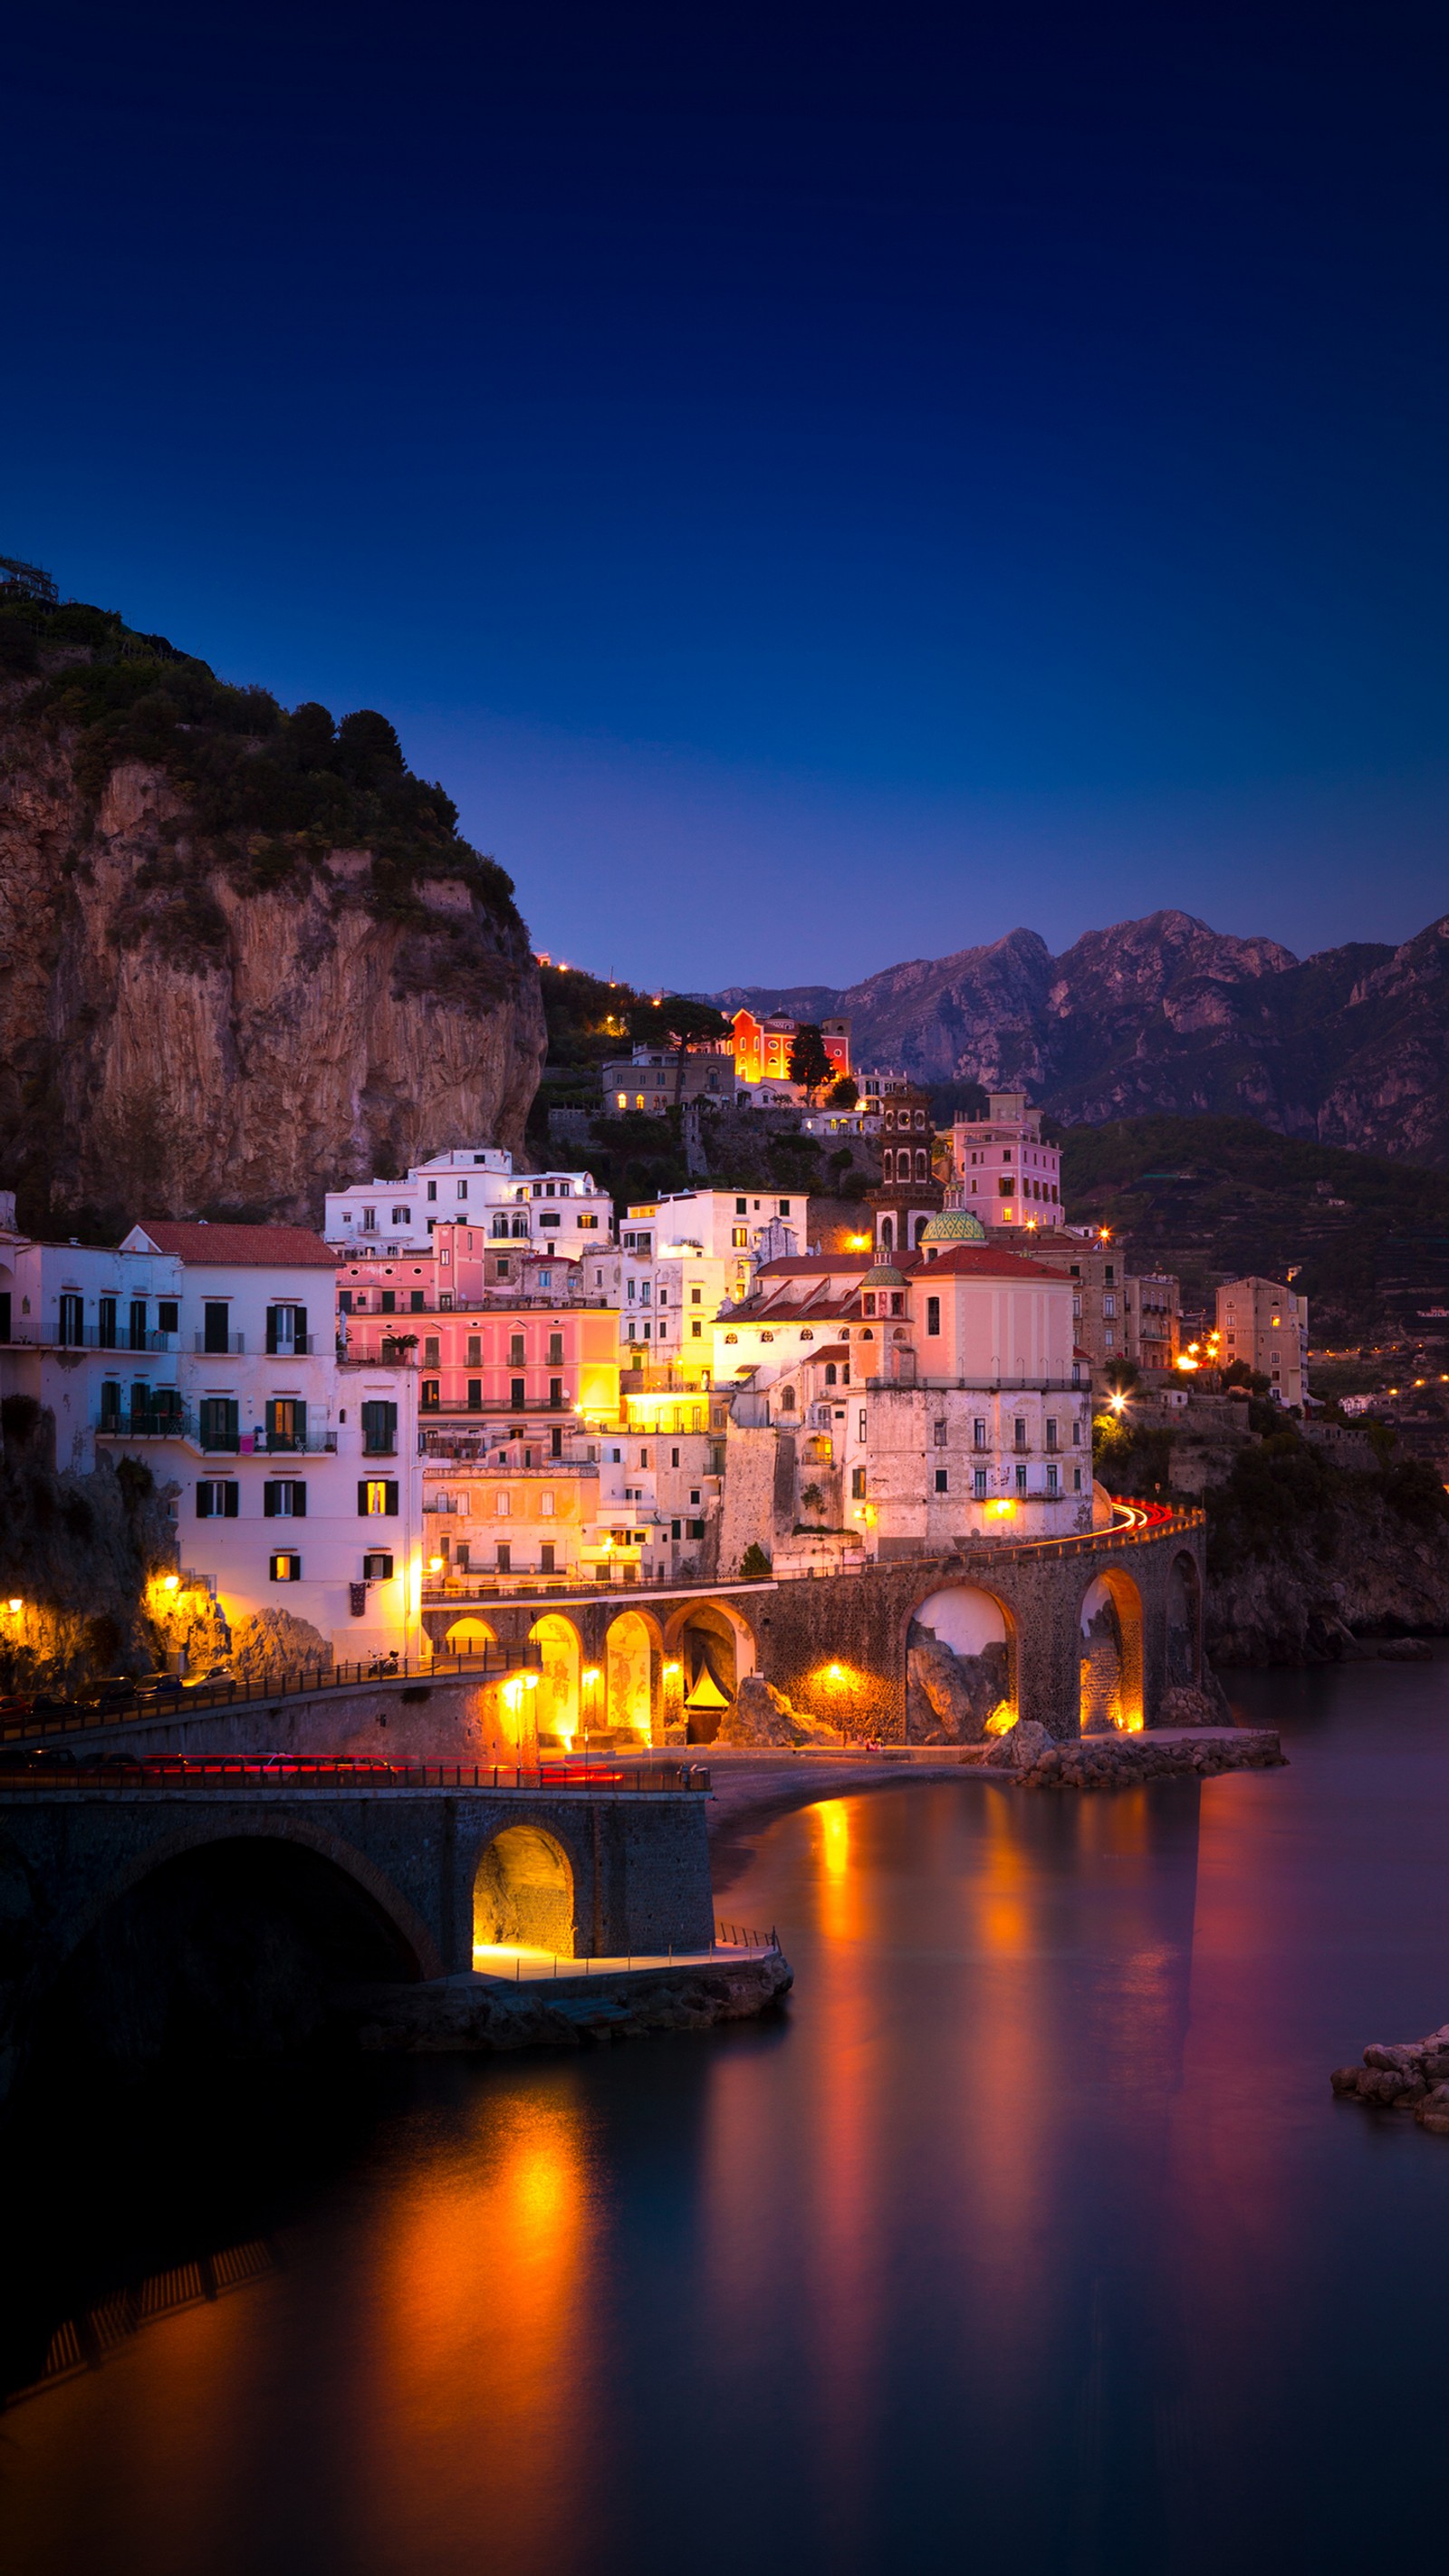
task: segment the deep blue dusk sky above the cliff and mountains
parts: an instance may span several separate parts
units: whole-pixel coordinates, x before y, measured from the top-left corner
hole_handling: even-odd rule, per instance
[[[535,940],[1449,902],[1441,5],[10,13],[0,551],[386,708]]]

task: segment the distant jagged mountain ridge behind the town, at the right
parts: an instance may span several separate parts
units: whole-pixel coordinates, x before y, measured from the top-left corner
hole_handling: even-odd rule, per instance
[[[1282,1136],[1449,1167],[1449,914],[1390,948],[1295,958],[1192,912],[1011,930],[844,989],[728,987],[728,1010],[844,1012],[857,1064],[932,1087],[1024,1084],[1058,1118],[1246,1115]]]

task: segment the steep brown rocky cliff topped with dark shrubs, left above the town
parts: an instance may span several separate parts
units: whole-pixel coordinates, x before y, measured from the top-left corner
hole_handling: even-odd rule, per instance
[[[407,809],[358,804],[327,768],[283,773],[299,719],[265,708],[273,739],[232,742],[232,778],[317,788],[301,832],[247,829],[245,799],[237,824],[216,778],[185,775],[206,721],[167,716],[160,757],[134,757],[144,726],[67,703],[44,652],[0,685],[0,1182],[28,1224],[317,1221],[324,1188],[448,1144],[522,1149],[546,1033],[510,881],[396,744],[389,788],[417,791],[427,824],[417,866]],[[306,757],[327,762],[332,719],[311,714],[327,739]],[[376,806],[386,845],[332,845],[327,799],[342,824]]]

